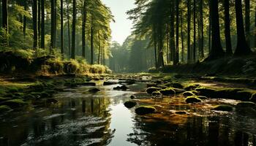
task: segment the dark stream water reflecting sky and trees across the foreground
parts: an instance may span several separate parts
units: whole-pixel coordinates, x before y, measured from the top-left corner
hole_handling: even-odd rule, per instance
[[[138,116],[124,101],[146,83],[136,82],[128,91],[113,91],[116,86],[98,85],[98,93],[89,93],[86,86],[66,88],[54,95],[57,104],[1,115],[0,145],[256,145],[256,115],[208,110],[214,103],[237,101],[190,105],[180,97],[152,99],[168,103],[168,112]],[[170,114],[174,110],[189,114]]]

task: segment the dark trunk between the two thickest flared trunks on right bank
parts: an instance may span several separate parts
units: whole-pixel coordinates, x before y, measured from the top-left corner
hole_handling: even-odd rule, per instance
[[[230,2],[224,0],[224,12],[225,12],[225,40],[226,40],[226,54],[232,55],[231,37],[230,37]]]

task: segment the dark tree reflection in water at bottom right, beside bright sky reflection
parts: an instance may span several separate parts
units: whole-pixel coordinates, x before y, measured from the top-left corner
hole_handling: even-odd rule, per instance
[[[192,116],[184,125],[135,117],[127,141],[137,145],[256,145],[255,136],[227,126],[229,118]]]

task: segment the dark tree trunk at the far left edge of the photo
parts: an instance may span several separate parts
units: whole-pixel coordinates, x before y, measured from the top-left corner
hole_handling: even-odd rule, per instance
[[[2,45],[4,46],[9,46],[9,41],[8,41],[8,37],[7,37],[7,34],[9,34],[9,30],[8,30],[8,1],[7,0],[2,0],[2,17],[3,17],[3,20],[2,20],[2,26],[4,28],[4,31],[5,33],[4,34],[1,34],[4,36],[4,42],[1,42],[3,43]]]

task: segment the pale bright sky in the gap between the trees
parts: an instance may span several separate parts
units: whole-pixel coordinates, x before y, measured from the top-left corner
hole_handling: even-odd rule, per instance
[[[116,23],[111,23],[112,41],[123,44],[124,40],[131,34],[132,20],[128,20],[126,12],[135,7],[134,0],[102,0],[110,7]]]

